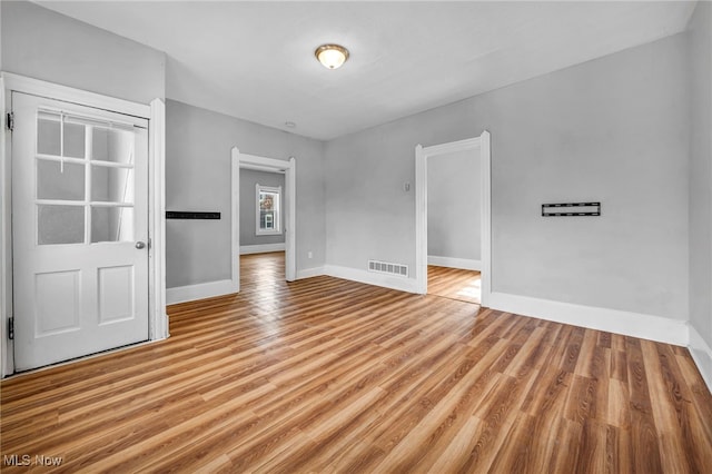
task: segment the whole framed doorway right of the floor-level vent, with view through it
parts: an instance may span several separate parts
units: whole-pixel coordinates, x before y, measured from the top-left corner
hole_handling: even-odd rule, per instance
[[[487,305],[492,282],[490,189],[487,131],[466,140],[416,147],[418,293]],[[428,214],[434,214],[432,219]]]

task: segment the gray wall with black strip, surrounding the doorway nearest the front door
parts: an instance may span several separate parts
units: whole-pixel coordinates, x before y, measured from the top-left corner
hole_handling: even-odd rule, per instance
[[[220,220],[166,223],[168,288],[230,278],[230,149],[297,161],[297,270],[324,265],[323,144],[175,100],[166,102],[166,209]],[[314,257],[307,258],[313,251]]]

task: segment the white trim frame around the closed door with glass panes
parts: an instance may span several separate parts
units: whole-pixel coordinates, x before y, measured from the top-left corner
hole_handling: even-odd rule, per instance
[[[168,337],[166,315],[166,205],[165,205],[165,124],[166,106],[161,99],[150,105],[131,102],[113,97],[59,86],[23,76],[0,72],[0,110],[2,134],[0,134],[0,376],[14,372],[12,342],[8,339],[8,322],[12,317],[12,157],[10,131],[7,127],[10,93],[12,91],[41,96],[83,106],[128,113],[149,120],[149,338],[159,340]]]

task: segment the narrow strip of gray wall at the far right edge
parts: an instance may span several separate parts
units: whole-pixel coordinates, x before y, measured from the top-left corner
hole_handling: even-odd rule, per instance
[[[698,3],[689,31],[690,324],[712,347],[712,3]]]

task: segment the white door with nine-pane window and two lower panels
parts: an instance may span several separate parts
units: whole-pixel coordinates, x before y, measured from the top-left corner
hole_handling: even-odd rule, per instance
[[[148,339],[148,121],[13,92],[16,371]]]

